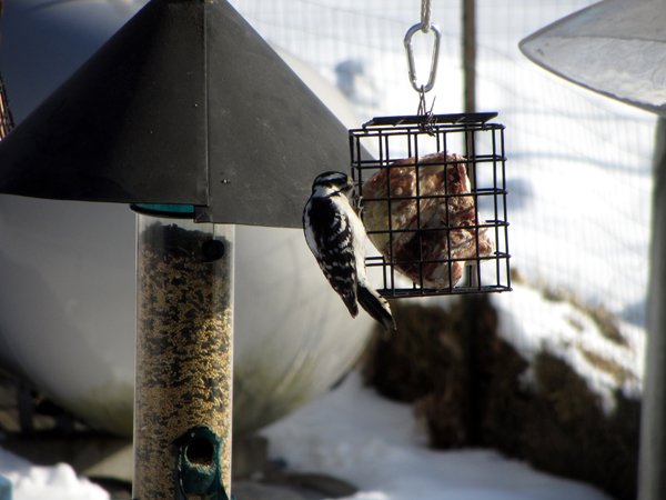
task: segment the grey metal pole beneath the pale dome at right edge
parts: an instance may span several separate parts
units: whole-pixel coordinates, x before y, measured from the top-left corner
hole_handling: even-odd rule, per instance
[[[638,499],[666,498],[666,120],[659,118],[654,156],[652,247]]]

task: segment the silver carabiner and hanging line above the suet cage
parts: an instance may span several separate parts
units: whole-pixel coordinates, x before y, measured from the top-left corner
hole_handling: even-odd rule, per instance
[[[434,42],[433,42],[433,53],[431,58],[431,68],[430,74],[426,83],[418,83],[418,79],[416,77],[416,64],[414,62],[414,50],[412,48],[412,38],[414,33],[417,31],[422,31],[423,33],[430,33],[431,31],[434,33]],[[425,93],[430,92],[435,84],[435,77],[437,76],[437,63],[440,60],[440,44],[442,41],[442,33],[440,28],[436,24],[431,23],[431,0],[421,0],[421,22],[411,27],[404,39],[405,51],[407,52],[407,64],[410,69],[410,81],[412,83],[412,88],[418,92],[418,116],[425,117],[424,128],[428,128],[432,124],[433,120],[433,107],[435,104],[435,100],[433,99],[433,104],[430,110],[425,103]],[[430,133],[430,132],[428,132]]]

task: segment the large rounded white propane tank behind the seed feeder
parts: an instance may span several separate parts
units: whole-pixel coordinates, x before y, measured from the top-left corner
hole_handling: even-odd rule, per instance
[[[4,3],[0,71],[20,123],[145,2]],[[282,56],[343,123],[356,124],[335,88]],[[0,364],[81,419],[131,436],[134,213],[124,204],[0,196]],[[372,329],[366,314],[350,318],[300,229],[243,226],[234,322],[239,433],[326,391]]]

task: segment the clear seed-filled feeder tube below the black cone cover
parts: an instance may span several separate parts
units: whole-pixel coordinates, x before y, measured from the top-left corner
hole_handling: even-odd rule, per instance
[[[135,500],[228,500],[233,226],[138,214]]]

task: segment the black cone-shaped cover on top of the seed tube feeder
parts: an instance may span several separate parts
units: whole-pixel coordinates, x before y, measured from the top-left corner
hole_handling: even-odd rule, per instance
[[[0,192],[300,227],[347,131],[223,0],[152,0],[0,142]]]

